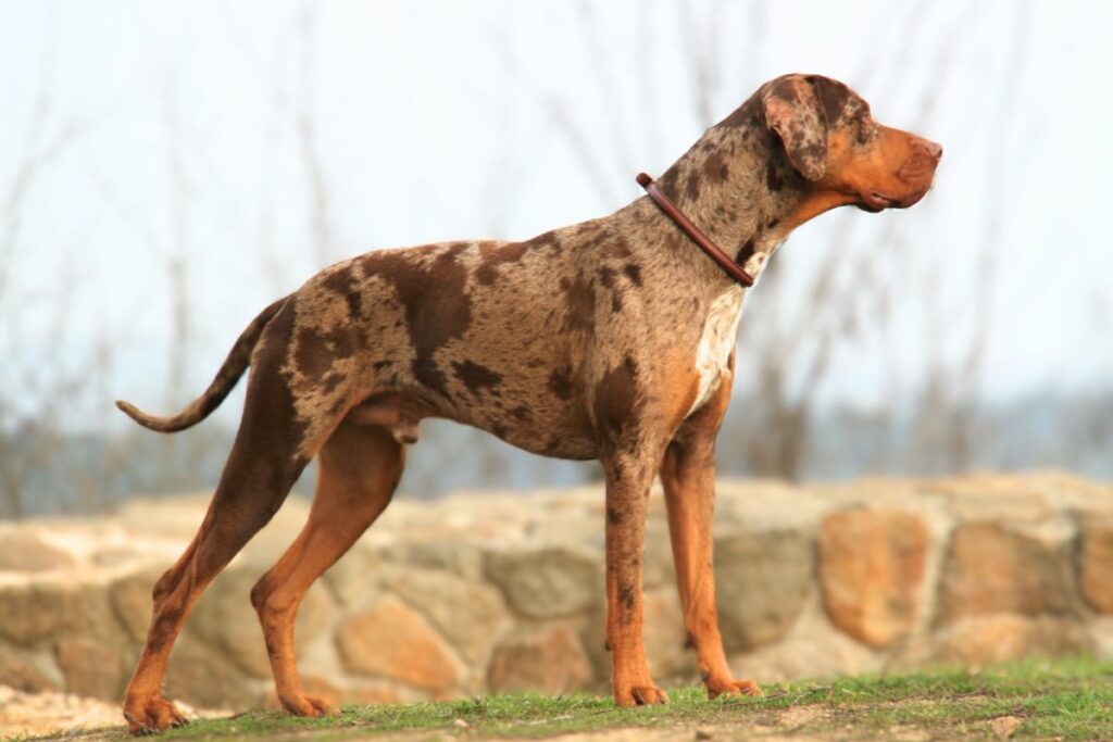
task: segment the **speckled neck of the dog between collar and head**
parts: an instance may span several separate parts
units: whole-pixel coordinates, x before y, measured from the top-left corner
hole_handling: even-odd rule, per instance
[[[689,219],[755,278],[797,226],[792,216],[807,199],[804,178],[788,162],[776,135],[764,123],[752,126],[748,120],[760,116],[759,111],[760,107],[745,103],[708,129],[657,181]],[[687,247],[698,254],[695,245]],[[696,265],[709,267],[715,283],[732,280],[710,260]]]

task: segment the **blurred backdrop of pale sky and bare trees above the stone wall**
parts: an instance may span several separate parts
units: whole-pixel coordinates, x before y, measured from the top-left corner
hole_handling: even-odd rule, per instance
[[[332,261],[618,209],[790,71],[946,155],[915,209],[778,254],[720,471],[1111,478],[1111,24],[1020,0],[2,2],[0,516],[210,487],[242,388],[176,436],[112,400],[177,409]],[[401,489],[597,475],[429,421]]]

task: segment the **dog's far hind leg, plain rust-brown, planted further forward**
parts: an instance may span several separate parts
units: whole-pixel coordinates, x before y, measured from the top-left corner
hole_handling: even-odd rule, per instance
[[[403,459],[404,449],[388,429],[342,424],[321,449],[317,494],[305,528],[252,590],[278,700],[293,714],[319,716],[331,711],[302,689],[294,652],[297,609],[309,585],[386,508]]]

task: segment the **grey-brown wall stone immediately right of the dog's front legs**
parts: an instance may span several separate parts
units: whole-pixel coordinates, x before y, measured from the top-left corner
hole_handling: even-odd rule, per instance
[[[715,541],[719,630],[727,651],[784,637],[811,590],[815,545],[802,531],[737,532]]]

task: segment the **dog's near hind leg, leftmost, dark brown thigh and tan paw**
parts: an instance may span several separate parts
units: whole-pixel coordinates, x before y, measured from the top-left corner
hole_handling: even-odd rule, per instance
[[[306,427],[298,422],[293,393],[280,372],[286,347],[282,335],[288,332],[288,321],[268,328],[273,339],[256,353],[244,418],[205,520],[186,552],[155,585],[147,643],[124,700],[132,733],[185,723],[161,691],[174,641],[201,591],[278,511],[312,455],[313,442],[305,439]]]

